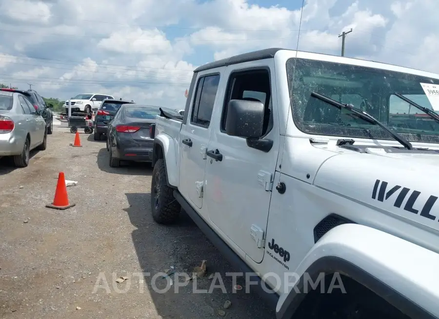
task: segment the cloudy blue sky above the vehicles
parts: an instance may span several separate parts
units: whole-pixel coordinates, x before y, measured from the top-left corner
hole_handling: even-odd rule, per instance
[[[268,47],[339,55],[351,28],[346,57],[439,73],[438,0],[304,0],[300,24],[301,10],[302,0],[0,0],[0,83],[183,109],[199,65]]]

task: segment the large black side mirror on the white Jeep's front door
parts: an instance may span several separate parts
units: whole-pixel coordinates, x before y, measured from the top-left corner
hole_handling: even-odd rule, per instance
[[[226,133],[245,139],[262,136],[264,104],[257,101],[230,100],[227,107]]]

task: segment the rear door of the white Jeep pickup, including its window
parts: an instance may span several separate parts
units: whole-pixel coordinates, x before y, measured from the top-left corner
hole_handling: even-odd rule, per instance
[[[180,193],[198,208],[203,204],[206,150],[220,71],[200,72],[192,94],[187,123],[180,131]]]

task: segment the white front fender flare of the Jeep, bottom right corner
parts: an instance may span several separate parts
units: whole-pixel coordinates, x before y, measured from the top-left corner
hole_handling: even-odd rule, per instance
[[[411,318],[439,318],[438,269],[439,254],[431,250],[371,227],[339,225],[319,239],[299,264],[297,277],[280,295],[276,317],[291,318],[304,298],[305,280],[316,280],[320,273],[340,273]]]

